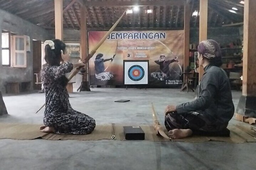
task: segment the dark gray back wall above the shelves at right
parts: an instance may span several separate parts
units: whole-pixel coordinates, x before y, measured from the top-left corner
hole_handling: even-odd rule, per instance
[[[240,39],[239,27],[220,27],[220,28],[208,28],[207,39],[213,39],[217,41],[223,48],[230,42],[236,42]],[[190,44],[199,44],[199,29],[190,29]]]

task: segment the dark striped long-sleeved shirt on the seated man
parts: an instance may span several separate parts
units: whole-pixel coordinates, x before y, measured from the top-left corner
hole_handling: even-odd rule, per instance
[[[177,105],[177,113],[198,112],[217,124],[228,123],[235,111],[228,76],[217,66],[207,65],[204,70],[197,98]]]

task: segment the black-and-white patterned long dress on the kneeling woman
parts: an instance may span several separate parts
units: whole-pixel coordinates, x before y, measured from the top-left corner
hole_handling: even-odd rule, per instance
[[[45,92],[44,125],[54,127],[56,134],[89,134],[95,128],[95,120],[74,110],[68,100],[65,73],[71,72],[73,64],[60,66],[46,64],[41,72]]]

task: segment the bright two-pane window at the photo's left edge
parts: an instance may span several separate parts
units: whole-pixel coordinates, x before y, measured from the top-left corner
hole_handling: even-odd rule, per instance
[[[2,65],[11,66],[11,35],[2,31]]]

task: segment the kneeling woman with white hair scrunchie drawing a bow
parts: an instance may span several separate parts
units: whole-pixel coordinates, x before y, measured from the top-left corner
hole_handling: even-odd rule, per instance
[[[70,63],[69,54],[63,54],[66,45],[58,39],[47,40],[45,44],[45,61],[41,79],[45,92],[44,126],[42,132],[56,134],[89,134],[96,124],[90,116],[74,110],[68,100],[65,73],[85,64]],[[60,64],[62,62],[62,64]]]

